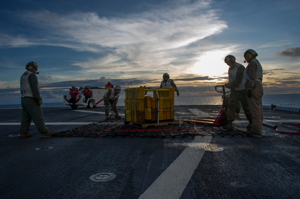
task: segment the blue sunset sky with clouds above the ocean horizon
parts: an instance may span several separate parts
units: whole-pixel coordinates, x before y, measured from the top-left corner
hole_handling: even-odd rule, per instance
[[[20,103],[29,61],[43,102],[63,102],[73,85],[158,88],[164,73],[179,97],[218,96],[225,56],[246,67],[247,49],[264,94],[300,93],[298,0],[10,0],[0,10],[0,104]]]

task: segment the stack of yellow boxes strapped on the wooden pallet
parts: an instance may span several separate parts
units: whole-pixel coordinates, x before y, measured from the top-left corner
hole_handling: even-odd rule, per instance
[[[125,89],[125,120],[128,122],[153,122],[174,120],[174,88]],[[153,91],[153,97],[145,96]]]

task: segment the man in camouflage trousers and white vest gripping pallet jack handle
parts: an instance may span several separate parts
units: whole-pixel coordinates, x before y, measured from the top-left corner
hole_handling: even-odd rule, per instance
[[[223,129],[233,130],[232,122],[235,120],[235,110],[239,101],[241,102],[247,120],[249,120],[249,124],[246,128],[251,129],[253,123],[252,114],[248,102],[247,89],[242,84],[245,67],[235,62],[235,57],[233,55],[227,55],[224,62],[229,66],[229,82],[225,84],[225,87],[230,88],[230,97],[227,115],[228,124],[223,126]]]

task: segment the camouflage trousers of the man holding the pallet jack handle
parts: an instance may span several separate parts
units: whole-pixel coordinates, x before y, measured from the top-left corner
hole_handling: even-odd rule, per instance
[[[240,90],[240,91],[235,91],[235,90],[230,91],[227,120],[228,121],[235,120],[235,111],[239,101],[241,102],[247,120],[252,121],[252,114],[251,114],[249,101],[247,97],[247,89]]]

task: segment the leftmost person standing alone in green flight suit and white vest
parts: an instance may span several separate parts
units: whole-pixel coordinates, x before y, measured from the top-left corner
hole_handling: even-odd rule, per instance
[[[21,76],[21,105],[22,105],[22,120],[20,127],[20,138],[28,138],[32,136],[29,133],[31,120],[35,123],[38,131],[42,134],[41,137],[50,137],[55,131],[49,131],[45,126],[45,118],[41,108],[43,103],[40,95],[40,87],[38,86],[38,64],[30,61],[26,64],[26,72]]]

